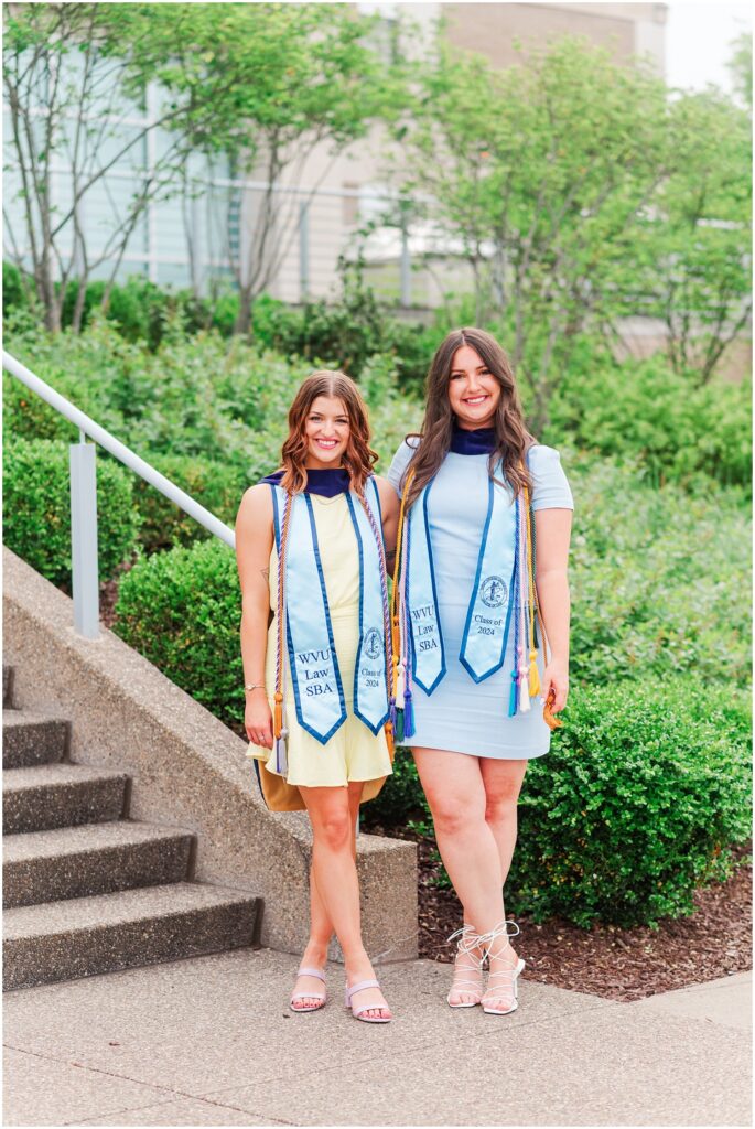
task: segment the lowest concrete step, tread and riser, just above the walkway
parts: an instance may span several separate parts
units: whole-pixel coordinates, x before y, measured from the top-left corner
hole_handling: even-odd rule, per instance
[[[242,948],[261,901],[246,891],[179,882],[3,914],[3,988]]]

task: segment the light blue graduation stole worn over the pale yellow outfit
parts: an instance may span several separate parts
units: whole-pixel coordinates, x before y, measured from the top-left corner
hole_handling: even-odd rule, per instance
[[[281,552],[286,491],[272,485],[275,545]],[[377,734],[388,718],[384,578],[376,536],[381,536],[380,500],[374,479],[366,496],[370,523],[354,491],[346,501],[359,549],[359,649],[354,671],[354,714]],[[343,684],[317,542],[311,499],[290,501],[286,545],[286,639],[299,725],[326,744],[346,719]]]

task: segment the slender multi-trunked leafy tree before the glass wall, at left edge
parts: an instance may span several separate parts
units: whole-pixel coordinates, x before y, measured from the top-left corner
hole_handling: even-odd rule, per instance
[[[21,270],[27,297],[36,297],[45,325],[56,332],[70,280],[78,290],[72,322],[80,327],[88,280],[106,266],[109,287],[150,202],[175,191],[188,157],[186,122],[207,113],[201,89],[143,116],[153,67],[146,45],[149,20],[123,20],[129,5],[28,3],[6,8],[3,84],[9,110],[6,170],[19,178],[20,230],[3,211],[8,250]],[[181,6],[170,6],[175,8]],[[179,17],[181,18],[181,17]],[[141,124],[124,122],[138,114]],[[183,128],[179,126],[183,123]],[[159,156],[147,156],[158,131],[172,132]],[[111,174],[130,168],[126,199]],[[107,213],[102,244],[93,247],[84,213]],[[30,265],[29,265],[30,264]]]

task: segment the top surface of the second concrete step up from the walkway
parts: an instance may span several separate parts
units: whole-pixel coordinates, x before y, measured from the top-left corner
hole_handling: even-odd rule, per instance
[[[191,834],[191,831],[183,831],[181,828],[114,820],[109,823],[81,823],[73,828],[3,835],[2,850],[6,863],[18,863],[35,858],[62,858],[111,847],[184,839]]]

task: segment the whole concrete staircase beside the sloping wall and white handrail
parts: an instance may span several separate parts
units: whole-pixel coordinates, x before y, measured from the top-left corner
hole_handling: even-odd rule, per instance
[[[192,882],[195,835],[129,820],[129,776],[68,761],[70,723],[12,684],[3,666],[3,989],[252,944],[260,899]]]

